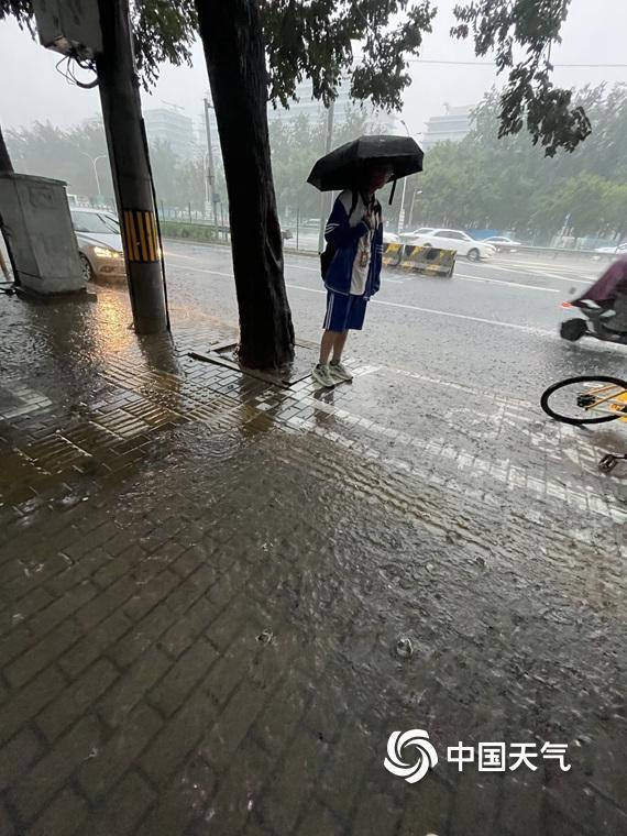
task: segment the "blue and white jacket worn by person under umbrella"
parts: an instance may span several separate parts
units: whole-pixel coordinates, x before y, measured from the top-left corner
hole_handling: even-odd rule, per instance
[[[348,197],[346,197],[348,196]],[[352,202],[352,193],[343,191],[337,198],[333,210],[327,222],[327,229],[324,231],[326,240],[336,248],[336,253],[324,276],[324,286],[328,290],[333,290],[337,294],[349,296],[351,293],[351,282],[353,275],[353,264],[358,257],[358,244],[359,240],[371,231],[369,224],[360,220],[355,226],[351,226],[351,219],[346,211],[345,205],[349,208]],[[359,207],[362,206],[362,201],[358,200],[358,206],[353,211],[354,215],[359,212]],[[381,287],[381,266],[383,262],[383,224],[381,223],[381,215],[377,215],[378,222],[373,230],[374,234],[371,242],[371,260],[369,274],[365,283],[364,298],[370,299],[374,296]]]

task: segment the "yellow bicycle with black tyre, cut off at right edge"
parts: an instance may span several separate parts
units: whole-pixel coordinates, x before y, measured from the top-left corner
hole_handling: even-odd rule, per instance
[[[566,377],[542,393],[540,406],[554,420],[576,427],[627,422],[627,382],[603,375]],[[606,453],[598,466],[607,473],[622,460],[627,460],[627,453]]]

